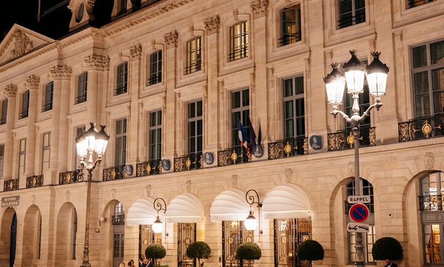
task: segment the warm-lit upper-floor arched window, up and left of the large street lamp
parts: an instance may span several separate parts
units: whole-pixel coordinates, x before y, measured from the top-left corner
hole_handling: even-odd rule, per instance
[[[301,5],[293,5],[281,10],[281,38],[279,45],[301,41]]]

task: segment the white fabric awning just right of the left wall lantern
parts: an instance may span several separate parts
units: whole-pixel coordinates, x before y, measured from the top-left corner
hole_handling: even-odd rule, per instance
[[[168,222],[199,223],[205,215],[202,202],[193,194],[185,193],[172,199],[166,206]]]

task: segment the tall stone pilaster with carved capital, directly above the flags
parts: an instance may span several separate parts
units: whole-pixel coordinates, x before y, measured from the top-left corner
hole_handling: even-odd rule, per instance
[[[254,32],[254,62],[255,69],[250,73],[250,119],[253,127],[258,135],[259,120],[261,122],[261,128],[263,135],[267,135],[268,132],[268,93],[267,93],[267,0],[255,0],[251,2],[250,7],[253,12],[254,27],[251,29]],[[251,49],[251,48],[249,48]],[[252,109],[254,108],[254,109]],[[267,145],[267,140],[262,138],[264,142],[261,142],[264,155],[267,157],[267,149],[264,147]],[[255,157],[252,156],[254,160]]]

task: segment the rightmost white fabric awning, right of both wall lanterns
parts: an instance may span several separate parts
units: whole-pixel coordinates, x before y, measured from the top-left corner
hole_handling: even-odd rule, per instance
[[[311,216],[311,204],[302,189],[287,183],[268,192],[262,211],[267,219],[308,218]]]

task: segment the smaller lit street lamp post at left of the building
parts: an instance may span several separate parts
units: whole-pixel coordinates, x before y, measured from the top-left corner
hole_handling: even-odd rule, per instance
[[[109,136],[105,132],[104,125],[100,125],[100,131],[94,127],[94,123],[90,122],[90,128],[85,132],[82,132],[80,136],[76,138],[77,155],[80,158],[80,165],[82,169],[79,173],[82,173],[83,169],[88,172],[87,179],[87,191],[86,191],[86,221],[85,221],[85,244],[83,246],[83,259],[81,267],[90,267],[89,264],[89,216],[90,216],[90,202],[91,202],[91,179],[92,171],[95,166],[102,161],[102,155],[105,153],[106,146],[108,145]],[[96,154],[95,161],[93,160],[93,154]],[[86,161],[86,157],[88,157]]]

